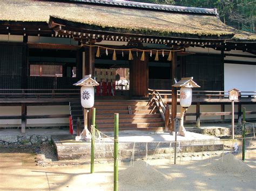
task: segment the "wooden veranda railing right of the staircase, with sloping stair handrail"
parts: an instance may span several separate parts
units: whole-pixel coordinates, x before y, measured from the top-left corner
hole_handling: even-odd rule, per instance
[[[158,97],[161,97],[161,99],[158,98],[158,100],[161,101],[163,105],[171,104],[171,90],[152,90],[149,89],[149,97],[155,97],[156,93]],[[180,91],[178,90],[178,97],[179,97]],[[179,98],[177,99],[179,102]],[[231,102],[228,99],[228,91],[193,91],[192,96],[192,103],[196,104],[196,112],[193,113],[186,113],[185,116],[196,116],[196,125],[200,127],[200,117],[201,116],[221,116],[221,119],[209,119],[210,122],[215,121],[225,121],[225,116],[231,116],[231,111],[225,111],[225,104],[228,104],[228,102]],[[242,120],[242,111],[241,111],[241,105],[242,103],[246,102],[247,104],[256,104],[256,91],[240,91],[239,92],[239,99],[236,101],[236,104],[238,104],[238,109],[236,112],[234,112],[235,115],[238,115],[237,121],[239,124],[241,124]],[[220,105],[221,111],[212,111],[212,112],[200,112],[200,104],[216,104]],[[170,108],[169,108],[170,109]],[[163,110],[163,109],[162,109]],[[163,110],[165,116],[170,115],[170,112],[166,112],[166,109]],[[246,115],[253,115],[256,114],[256,111],[246,111]],[[163,119],[166,119],[163,118]],[[170,119],[170,117],[168,118]],[[187,121],[186,121],[187,122]],[[166,122],[166,125],[170,125]]]

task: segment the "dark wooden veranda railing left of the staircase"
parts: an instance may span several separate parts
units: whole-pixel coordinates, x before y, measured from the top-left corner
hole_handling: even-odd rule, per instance
[[[80,89],[0,89],[0,105],[19,105],[21,115],[0,116],[0,119],[22,119],[22,133],[25,132],[27,119],[68,118],[69,114],[27,115],[28,105],[69,104],[77,100]],[[60,102],[60,103],[59,103]]]

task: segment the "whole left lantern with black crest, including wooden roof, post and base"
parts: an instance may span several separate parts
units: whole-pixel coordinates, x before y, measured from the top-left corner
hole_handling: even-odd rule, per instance
[[[87,113],[89,112],[89,109],[92,108],[94,105],[94,86],[99,86],[99,83],[96,80],[93,80],[91,78],[91,75],[86,75],[82,80],[79,80],[77,83],[74,83],[73,86],[81,86],[81,104],[84,108],[84,130],[82,131],[81,135],[78,136],[79,139],[88,140],[91,139],[91,135],[87,127]]]

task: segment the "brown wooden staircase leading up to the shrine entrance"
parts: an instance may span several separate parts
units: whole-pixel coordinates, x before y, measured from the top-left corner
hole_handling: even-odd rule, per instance
[[[148,101],[96,101],[94,107],[96,125],[100,131],[113,131],[114,113],[119,114],[119,130],[163,131],[164,128],[158,108]],[[70,102],[70,114],[73,130],[76,130],[78,117],[83,123],[83,108],[80,102]]]

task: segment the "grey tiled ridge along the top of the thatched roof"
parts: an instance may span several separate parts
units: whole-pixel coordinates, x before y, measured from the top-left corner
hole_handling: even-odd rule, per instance
[[[217,9],[191,8],[187,6],[174,6],[174,5],[163,5],[163,4],[142,3],[142,2],[132,2],[132,1],[62,0],[62,1],[55,1],[55,2],[95,3],[95,4],[102,4],[102,5],[124,6],[124,7],[130,7],[130,8],[143,8],[143,9],[150,9],[150,10],[186,12],[186,13],[197,13],[197,14],[207,14],[207,15],[218,16]]]

